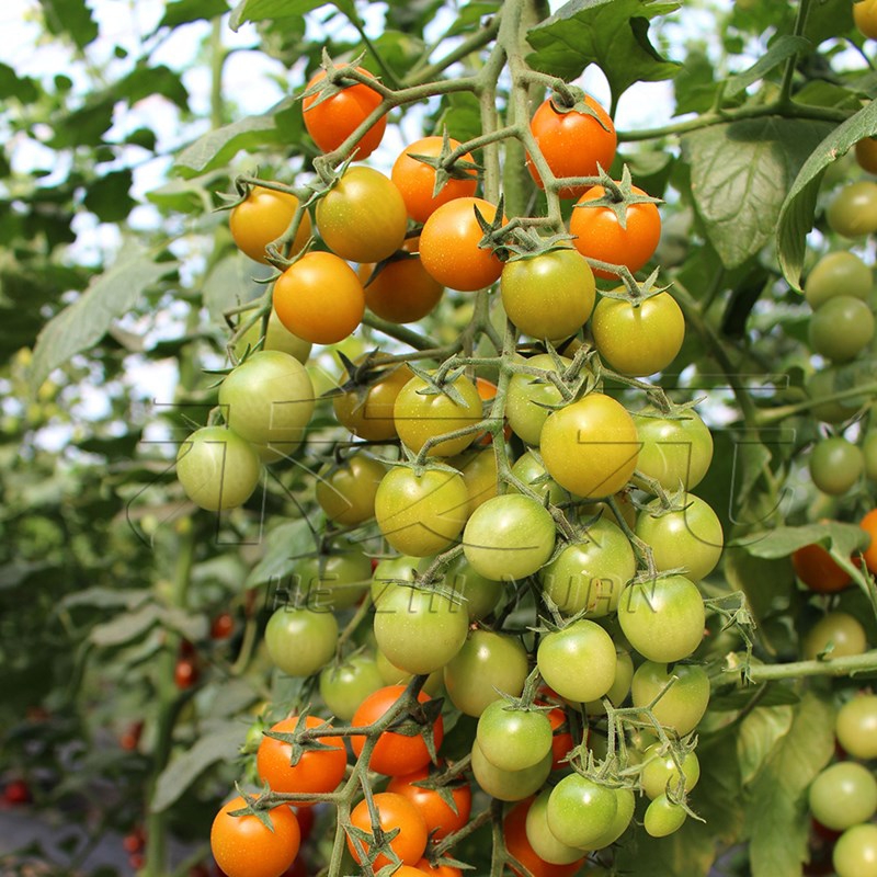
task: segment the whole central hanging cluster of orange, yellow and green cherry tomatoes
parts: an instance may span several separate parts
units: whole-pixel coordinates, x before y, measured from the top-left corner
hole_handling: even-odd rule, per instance
[[[637,824],[683,824],[710,694],[701,582],[724,533],[693,491],[713,438],[641,380],[685,332],[643,278],[660,215],[626,169],[607,174],[615,129],[590,95],[555,94],[531,124],[546,203],[574,201],[549,236],[510,219],[478,150],[447,136],[411,143],[390,175],[341,161],[377,150],[384,94],[360,68],[315,77],[318,179],[250,180],[231,213],[237,246],[276,274],[178,477],[218,512],[293,460],[315,482],[297,504],[320,511],[263,631],[303,694],[253,726],[261,794],[219,811],[212,846],[229,877],[278,877],[301,861],[299,817],[335,808],[355,863],[446,877],[493,798],[514,873],[572,874]],[[399,328],[448,297],[474,303],[462,338],[436,350]],[[363,320],[395,340],[342,357],[330,409],[311,345],[343,351]]]

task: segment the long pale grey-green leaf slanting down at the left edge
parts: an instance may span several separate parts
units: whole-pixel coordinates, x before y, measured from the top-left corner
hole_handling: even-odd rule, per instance
[[[113,320],[132,310],[146,289],[176,270],[176,262],[156,262],[153,255],[134,248],[125,250],[118,262],[45,324],[31,365],[34,391],[54,368],[96,344]]]

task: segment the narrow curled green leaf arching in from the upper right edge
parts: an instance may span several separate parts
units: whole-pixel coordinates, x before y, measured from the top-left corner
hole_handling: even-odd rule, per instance
[[[812,124],[812,123],[811,123]],[[791,184],[776,224],[779,267],[789,285],[800,291],[806,238],[813,227],[819,183],[825,168],[864,137],[877,134],[877,101],[851,116],[818,144]]]

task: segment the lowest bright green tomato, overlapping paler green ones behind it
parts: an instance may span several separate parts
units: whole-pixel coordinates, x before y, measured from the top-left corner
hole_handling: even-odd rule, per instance
[[[565,776],[548,798],[551,834],[567,846],[588,847],[612,828],[618,810],[615,789],[581,774]]]

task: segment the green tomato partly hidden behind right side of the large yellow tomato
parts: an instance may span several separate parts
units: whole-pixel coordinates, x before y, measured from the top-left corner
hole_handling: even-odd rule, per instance
[[[634,415],[639,448],[637,469],[664,490],[691,490],[703,481],[713,462],[713,435],[692,409],[669,418],[656,412]]]

